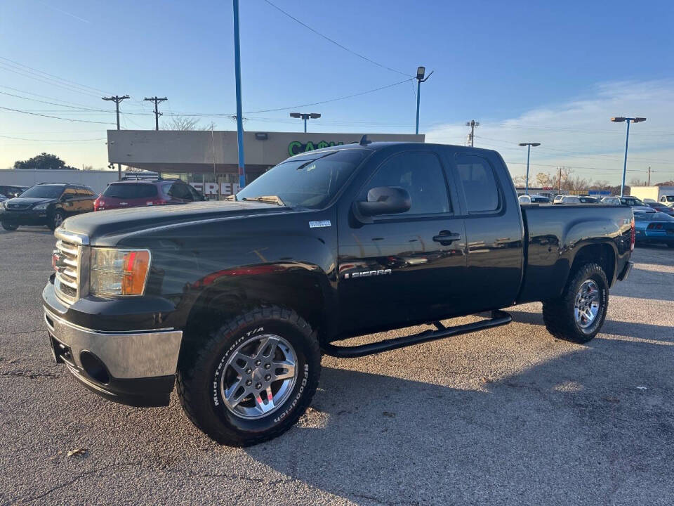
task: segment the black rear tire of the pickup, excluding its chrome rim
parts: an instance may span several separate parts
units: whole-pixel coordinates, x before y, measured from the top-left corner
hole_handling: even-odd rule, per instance
[[[576,294],[587,280],[593,280],[599,287],[599,311],[592,325],[582,328],[574,317]],[[586,343],[601,330],[609,307],[609,283],[604,269],[597,264],[583,264],[569,275],[564,292],[557,299],[543,301],[543,321],[548,332],[557,339],[575,343]]]

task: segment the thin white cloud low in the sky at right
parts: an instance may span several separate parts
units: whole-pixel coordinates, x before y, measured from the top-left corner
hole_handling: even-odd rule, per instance
[[[625,123],[614,116],[647,117],[630,128],[628,180],[652,167],[654,181],[674,179],[674,81],[608,82],[588,96],[535,108],[515,118],[481,120],[475,146],[498,150],[513,175],[524,173],[527,154],[521,142],[539,142],[531,149],[531,171],[552,172],[574,167],[585,178],[621,179]],[[468,127],[440,125],[426,135],[428,142],[464,144]]]

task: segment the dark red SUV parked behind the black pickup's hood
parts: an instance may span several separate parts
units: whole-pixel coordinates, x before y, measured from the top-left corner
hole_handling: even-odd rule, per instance
[[[98,195],[94,211],[145,207],[150,205],[186,204],[206,200],[192,186],[180,179],[128,179],[110,183]]]

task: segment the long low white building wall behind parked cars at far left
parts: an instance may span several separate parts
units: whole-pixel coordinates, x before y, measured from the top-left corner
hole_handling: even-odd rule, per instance
[[[122,177],[126,174],[121,171]],[[33,186],[37,183],[78,183],[101,193],[108,183],[117,181],[117,171],[79,170],[0,170],[0,184]]]

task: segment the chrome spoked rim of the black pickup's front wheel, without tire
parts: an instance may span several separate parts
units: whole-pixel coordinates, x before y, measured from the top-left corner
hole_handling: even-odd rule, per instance
[[[239,345],[220,375],[220,395],[230,412],[254,419],[273,413],[297,381],[297,355],[283,337],[264,334]]]

